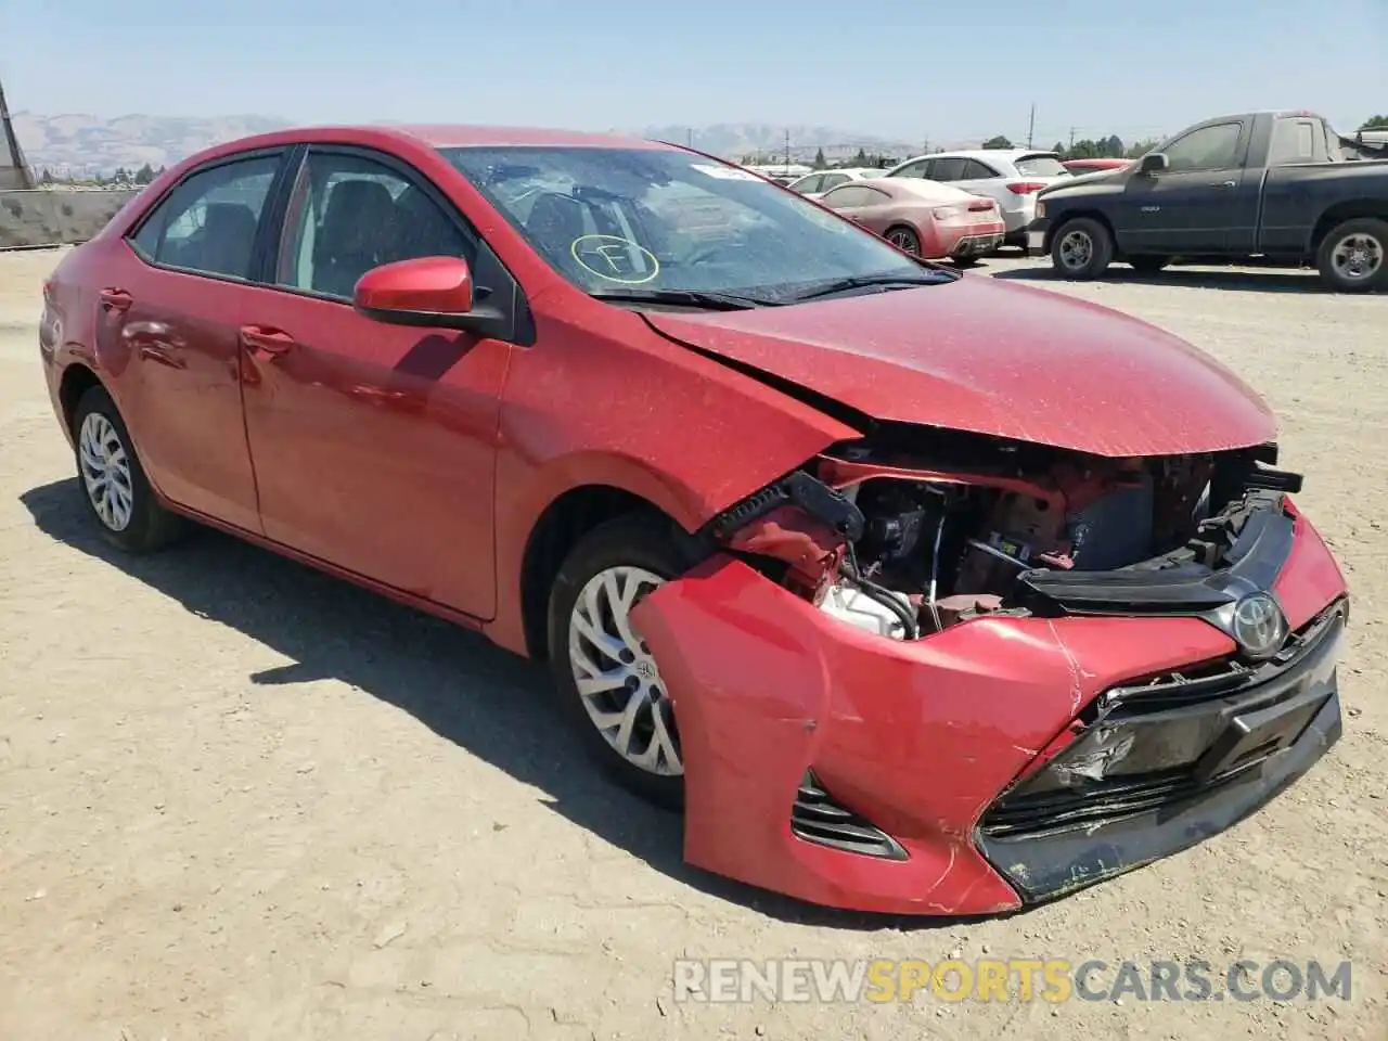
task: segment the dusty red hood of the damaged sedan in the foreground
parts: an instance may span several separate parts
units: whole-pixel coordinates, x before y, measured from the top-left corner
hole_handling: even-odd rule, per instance
[[[1110,457],[1223,451],[1276,434],[1262,398],[1184,340],[977,275],[790,307],[645,316],[666,337],[881,421]]]

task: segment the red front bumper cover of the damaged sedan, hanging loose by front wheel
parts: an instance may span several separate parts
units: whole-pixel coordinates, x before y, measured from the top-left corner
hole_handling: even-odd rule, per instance
[[[725,555],[651,593],[633,620],[680,729],[684,859],[811,902],[894,913],[1017,908],[973,843],[988,804],[1099,691],[1231,650],[1190,618],[979,618],[886,640]],[[906,859],[797,837],[790,813],[806,768]]]

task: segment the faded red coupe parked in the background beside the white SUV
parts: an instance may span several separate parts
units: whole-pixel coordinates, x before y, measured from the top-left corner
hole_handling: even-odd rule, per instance
[[[855,180],[819,201],[898,250],[960,268],[994,253],[1008,230],[995,200],[919,178]]]

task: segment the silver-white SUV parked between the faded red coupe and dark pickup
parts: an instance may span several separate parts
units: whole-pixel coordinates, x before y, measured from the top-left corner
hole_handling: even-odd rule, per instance
[[[951,187],[998,200],[1006,225],[1004,242],[1027,248],[1027,225],[1035,217],[1037,193],[1069,180],[1070,171],[1053,151],[1034,149],[977,149],[937,151],[906,160],[887,172],[888,178],[926,178]]]

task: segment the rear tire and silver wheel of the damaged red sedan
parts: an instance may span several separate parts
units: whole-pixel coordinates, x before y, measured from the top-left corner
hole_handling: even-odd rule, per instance
[[[125,419],[104,387],[92,387],[78,401],[72,432],[82,498],[101,537],[125,552],[150,552],[174,541],[182,520],[160,505]]]

